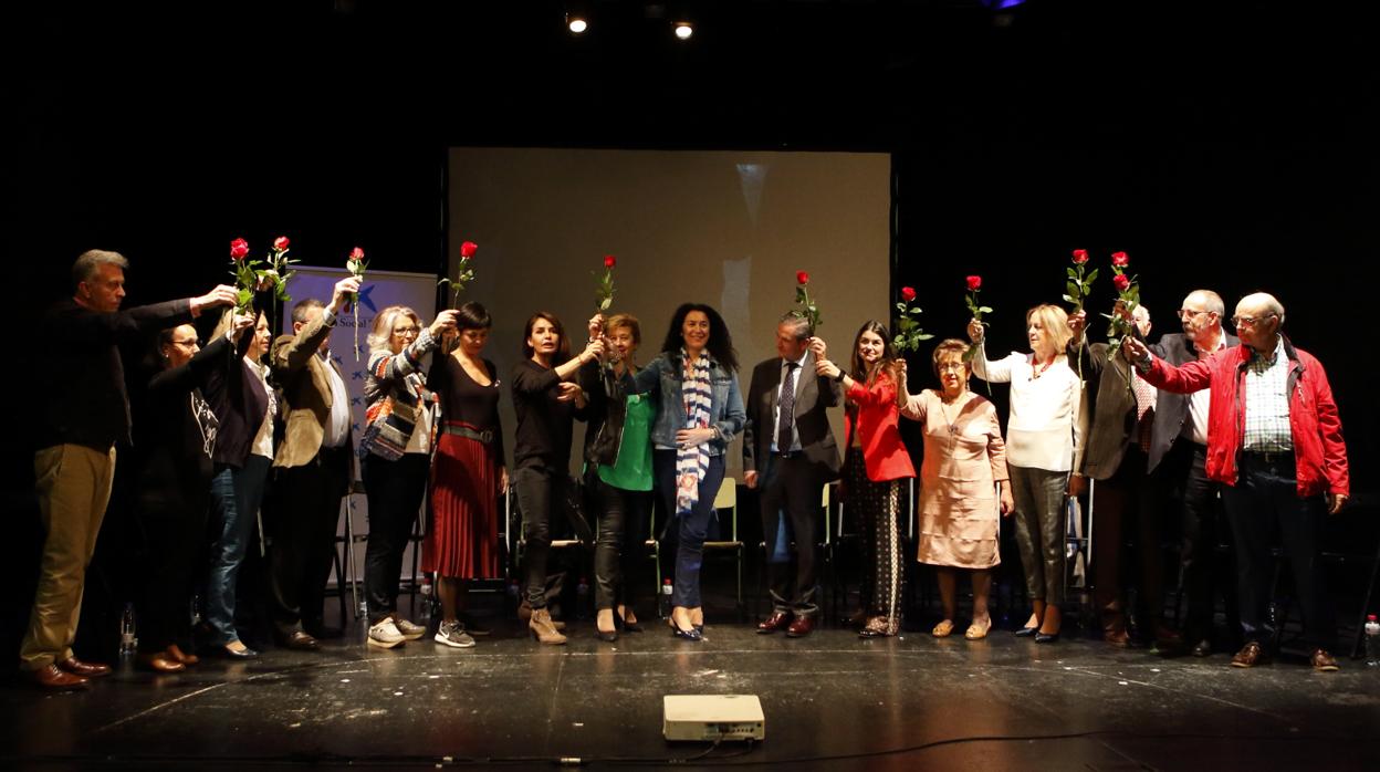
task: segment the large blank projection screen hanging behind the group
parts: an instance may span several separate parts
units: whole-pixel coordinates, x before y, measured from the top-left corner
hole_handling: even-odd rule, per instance
[[[846,360],[864,320],[889,320],[890,166],[886,153],[451,148],[450,272],[460,244],[477,243],[462,301],[494,316],[486,355],[506,380],[534,311],[556,313],[582,345],[592,272],[614,254],[611,311],[642,322],[638,362],[660,351],[679,304],[707,302],[731,330],[745,395],[752,366],[776,356],[798,271],[810,273],[834,359]],[[502,418],[511,463],[506,395]],[[842,447],[842,410],[834,423]],[[578,471],[578,450],[571,460]],[[738,479],[741,460],[736,443]]]

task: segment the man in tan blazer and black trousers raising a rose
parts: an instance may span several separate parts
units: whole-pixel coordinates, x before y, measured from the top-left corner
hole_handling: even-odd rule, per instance
[[[335,552],[341,497],[352,478],[349,391],[330,355],[330,334],[357,278],[335,283],[330,305],[293,307],[293,333],[273,341],[273,377],[283,388],[283,441],[273,459],[276,496],[265,507],[269,594],[280,645],[317,650],[326,580]],[[313,635],[315,634],[315,635]]]

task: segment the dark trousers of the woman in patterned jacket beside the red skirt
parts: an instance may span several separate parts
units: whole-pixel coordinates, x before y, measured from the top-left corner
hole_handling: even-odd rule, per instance
[[[378,624],[397,610],[403,552],[426,493],[431,459],[425,453],[404,453],[392,461],[371,453],[362,467],[364,494],[368,497],[364,601],[368,623]]]

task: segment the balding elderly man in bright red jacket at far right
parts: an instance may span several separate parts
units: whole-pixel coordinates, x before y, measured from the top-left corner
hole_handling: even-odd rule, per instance
[[[1323,587],[1322,529],[1347,503],[1347,445],[1322,365],[1285,337],[1285,309],[1274,297],[1241,298],[1231,318],[1241,345],[1174,367],[1140,341],[1126,355],[1158,388],[1188,394],[1212,388],[1208,409],[1208,476],[1223,483],[1227,519],[1236,537],[1241,627],[1246,645],[1234,667],[1265,662],[1272,637],[1270,526],[1278,522],[1289,555],[1304,633],[1317,670],[1337,670],[1337,624]]]

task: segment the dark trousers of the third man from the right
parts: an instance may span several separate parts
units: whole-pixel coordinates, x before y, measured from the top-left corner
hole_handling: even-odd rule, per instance
[[[1159,551],[1159,512],[1151,505],[1145,485],[1145,461],[1138,446],[1127,447],[1116,472],[1094,486],[1093,602],[1100,610],[1122,608],[1125,588],[1130,584],[1127,577],[1134,573],[1138,576],[1140,612],[1154,624],[1165,615],[1165,558]],[[1127,532],[1136,543],[1136,572],[1123,568]]]

